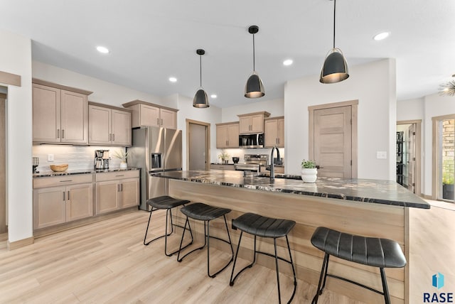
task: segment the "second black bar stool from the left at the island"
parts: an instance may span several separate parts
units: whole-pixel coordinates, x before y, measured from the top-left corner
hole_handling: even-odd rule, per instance
[[[182,239],[180,241],[180,247],[178,251],[178,256],[177,256],[177,261],[181,262],[185,256],[188,256],[188,254],[191,254],[192,252],[203,249],[205,247],[205,244],[207,244],[207,274],[210,278],[215,278],[215,276],[223,271],[226,267],[229,266],[230,262],[232,262],[232,258],[234,256],[234,249],[232,249],[232,242],[230,241],[230,234],[229,234],[229,229],[228,229],[228,222],[226,222],[226,214],[228,214],[231,210],[226,209],[226,208],[219,208],[219,207],[212,207],[209,205],[205,205],[202,202],[195,202],[194,204],[185,206],[181,209],[181,212],[183,215],[186,215],[186,222],[185,222],[185,227],[186,224],[188,224],[188,227],[190,225],[190,222],[188,221],[188,218],[191,219],[197,219],[199,221],[204,221],[204,244],[203,246],[193,249],[192,251],[188,252],[184,256],[180,258],[180,250],[185,248],[181,247],[182,242],[183,242],[183,236],[185,235],[185,230],[183,230],[182,234]],[[225,219],[225,226],[226,226],[226,232],[228,232],[228,239],[229,241],[226,241],[225,239],[220,239],[218,237],[213,237],[210,236],[210,221],[213,219],[217,219],[218,217],[221,217],[223,215],[223,218]],[[190,230],[191,231],[191,230]],[[219,239],[220,241],[224,241],[225,243],[230,245],[230,251],[231,251],[231,257],[230,261],[228,264],[226,264],[223,268],[221,268],[219,271],[216,273],[210,274],[210,238],[213,239]]]

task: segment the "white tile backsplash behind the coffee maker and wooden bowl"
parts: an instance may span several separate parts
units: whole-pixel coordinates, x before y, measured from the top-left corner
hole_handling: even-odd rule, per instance
[[[50,170],[49,165],[68,163],[68,170],[85,170],[93,168],[95,150],[109,150],[109,168],[119,168],[120,159],[115,153],[125,151],[124,147],[112,146],[66,146],[66,145],[36,145],[33,146],[33,157],[39,158],[38,171]],[[48,155],[53,154],[54,161],[48,161]]]

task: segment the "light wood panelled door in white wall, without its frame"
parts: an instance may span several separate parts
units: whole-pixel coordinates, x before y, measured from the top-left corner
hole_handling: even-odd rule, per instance
[[[319,176],[352,177],[350,106],[314,111],[314,161]]]

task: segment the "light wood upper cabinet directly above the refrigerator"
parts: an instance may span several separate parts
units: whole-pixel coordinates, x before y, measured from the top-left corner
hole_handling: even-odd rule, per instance
[[[132,127],[161,126],[163,128],[177,129],[177,111],[158,104],[151,104],[142,100],[134,100],[122,104],[132,110]]]

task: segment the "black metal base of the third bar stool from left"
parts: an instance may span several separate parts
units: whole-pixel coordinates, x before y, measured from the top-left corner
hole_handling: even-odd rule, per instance
[[[278,260],[281,260],[281,261],[285,261],[289,264],[291,264],[292,266],[292,272],[294,273],[294,291],[292,291],[292,295],[291,295],[291,298],[289,299],[289,301],[287,303],[291,303],[292,299],[294,298],[294,295],[296,294],[296,287],[297,287],[297,279],[296,279],[296,271],[295,271],[295,268],[294,268],[294,263],[292,262],[292,256],[291,256],[291,247],[289,246],[289,239],[287,237],[287,235],[285,236],[286,237],[286,242],[287,242],[287,249],[289,251],[289,260],[287,259],[283,259],[282,257],[278,256],[277,255],[277,238],[273,238],[273,244],[274,244],[274,254],[269,254],[268,252],[263,252],[263,251],[258,251],[256,250],[256,236],[255,236],[255,252],[254,252],[254,256],[253,256],[253,261],[251,264],[245,266],[244,268],[242,268],[241,271],[239,271],[235,276],[234,276],[234,270],[235,270],[235,263],[237,262],[237,256],[239,255],[239,249],[240,249],[240,241],[242,241],[242,235],[243,235],[243,231],[240,232],[240,238],[239,238],[239,243],[237,245],[237,251],[235,252],[235,259],[234,259],[234,265],[232,266],[232,273],[230,274],[230,282],[229,282],[229,285],[230,286],[233,286],[234,283],[235,283],[235,280],[237,279],[237,276],[240,275],[240,273],[242,273],[242,271],[244,271],[245,269],[247,268],[251,268],[255,263],[256,263],[256,254],[265,254],[266,256],[271,256],[272,258],[275,259],[275,266],[277,268],[277,285],[278,285],[278,301],[279,303],[282,303],[282,298],[281,298],[281,289],[279,287],[279,268],[278,268]],[[234,278],[232,278],[232,276],[234,276]]]

